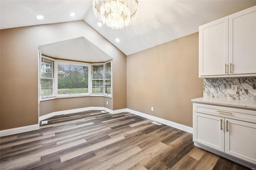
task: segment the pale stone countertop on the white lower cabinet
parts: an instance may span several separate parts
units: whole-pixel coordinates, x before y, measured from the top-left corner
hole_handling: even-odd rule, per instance
[[[241,101],[233,99],[218,99],[210,97],[200,97],[191,100],[194,103],[204,103],[210,105],[220,105],[227,107],[238,107],[241,109],[253,109],[256,111],[256,101]]]

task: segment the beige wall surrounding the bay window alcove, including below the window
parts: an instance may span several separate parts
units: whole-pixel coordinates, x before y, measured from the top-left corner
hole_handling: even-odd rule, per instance
[[[38,46],[81,36],[113,58],[113,98],[100,97],[100,106],[126,108],[126,67],[121,67],[126,65],[126,55],[84,21],[5,29],[0,34],[0,130],[38,124]],[[95,103],[96,98],[89,98]],[[49,108],[41,106],[40,112],[58,111],[62,103],[69,103],[63,109],[86,107],[89,98],[44,101],[41,104]]]

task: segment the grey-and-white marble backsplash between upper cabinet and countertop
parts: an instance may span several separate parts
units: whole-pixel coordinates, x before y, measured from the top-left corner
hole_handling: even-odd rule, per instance
[[[204,78],[204,97],[256,101],[256,77]]]

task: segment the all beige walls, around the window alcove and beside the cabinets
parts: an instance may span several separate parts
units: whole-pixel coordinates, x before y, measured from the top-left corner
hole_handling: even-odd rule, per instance
[[[38,45],[81,36],[113,58],[113,97],[42,101],[40,116],[90,106],[129,108],[192,127],[190,100],[202,97],[198,33],[127,58],[84,21],[5,29],[0,35],[1,130],[38,123]]]

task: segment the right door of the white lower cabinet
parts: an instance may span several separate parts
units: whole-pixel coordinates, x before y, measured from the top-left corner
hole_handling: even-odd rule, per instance
[[[225,119],[225,152],[256,164],[256,124]]]

